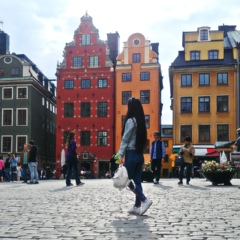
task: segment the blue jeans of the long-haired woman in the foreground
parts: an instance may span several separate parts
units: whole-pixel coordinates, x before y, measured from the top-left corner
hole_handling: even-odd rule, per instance
[[[134,181],[130,182],[129,188],[135,194],[135,207],[140,207],[141,202],[146,200],[142,189],[142,166],[144,163],[143,154],[137,153],[135,150],[127,150],[125,153],[124,166],[128,171],[128,178]]]

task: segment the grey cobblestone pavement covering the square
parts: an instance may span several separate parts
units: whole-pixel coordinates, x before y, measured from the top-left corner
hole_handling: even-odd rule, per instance
[[[233,186],[205,179],[143,183],[153,200],[143,216],[127,213],[134,195],[113,188],[111,179],[84,182],[0,182],[0,239],[240,239],[240,179]]]

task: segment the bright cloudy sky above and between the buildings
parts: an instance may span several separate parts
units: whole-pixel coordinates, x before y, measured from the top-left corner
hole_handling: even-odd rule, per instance
[[[54,78],[65,44],[73,40],[86,11],[102,40],[107,33],[118,31],[121,43],[135,32],[159,42],[164,76],[162,123],[171,123],[168,67],[182,50],[182,32],[200,26],[217,30],[223,23],[240,25],[236,0],[8,0],[1,2],[0,20],[10,35],[10,51],[26,54],[46,76]]]

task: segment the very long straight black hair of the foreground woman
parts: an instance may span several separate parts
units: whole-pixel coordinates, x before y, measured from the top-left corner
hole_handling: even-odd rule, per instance
[[[128,100],[128,110],[123,124],[122,136],[124,133],[125,124],[129,118],[135,118],[137,121],[137,135],[135,148],[138,153],[143,153],[143,150],[147,142],[147,129],[145,124],[145,116],[140,100],[134,97],[129,98]]]

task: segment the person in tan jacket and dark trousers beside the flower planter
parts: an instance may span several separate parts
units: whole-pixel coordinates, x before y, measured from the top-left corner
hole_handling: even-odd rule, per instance
[[[183,164],[180,166],[180,176],[178,184],[183,184],[183,171],[186,167],[186,183],[189,185],[191,172],[192,172],[192,162],[195,154],[195,149],[191,144],[191,138],[186,136],[184,138],[184,145],[180,148],[180,155],[183,158]]]

